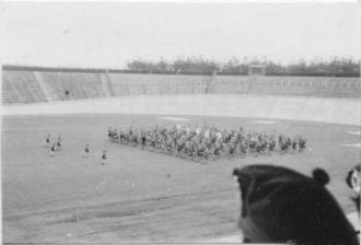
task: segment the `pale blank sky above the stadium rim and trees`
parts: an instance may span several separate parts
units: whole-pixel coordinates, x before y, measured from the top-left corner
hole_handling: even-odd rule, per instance
[[[359,13],[357,3],[3,2],[2,63],[360,59]]]

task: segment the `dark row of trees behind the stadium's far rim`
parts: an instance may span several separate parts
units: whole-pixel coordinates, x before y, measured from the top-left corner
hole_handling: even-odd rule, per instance
[[[264,66],[266,75],[326,75],[326,77],[360,77],[360,60],[334,57],[328,60],[314,59],[306,62],[281,65],[268,59],[242,60],[232,58],[226,62],[217,62],[202,57],[178,58],[174,61],[132,60],[127,70],[139,73],[175,73],[175,74],[247,74],[249,66]]]

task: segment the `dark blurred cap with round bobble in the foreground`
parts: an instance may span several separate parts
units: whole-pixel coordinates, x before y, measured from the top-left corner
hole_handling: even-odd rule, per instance
[[[247,243],[302,245],[359,244],[334,197],[325,188],[327,173],[313,177],[286,167],[251,165],[235,168],[241,190],[238,225]]]

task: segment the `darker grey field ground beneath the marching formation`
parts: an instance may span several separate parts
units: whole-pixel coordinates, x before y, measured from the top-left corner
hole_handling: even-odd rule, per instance
[[[186,124],[302,135],[304,153],[223,158],[199,164],[110,143],[108,126],[174,124],[156,115],[33,115],[2,118],[3,242],[189,242],[240,234],[236,166],[269,163],[310,175],[324,167],[328,189],[346,213],[354,211],[345,184],[360,161],[360,127],[252,118],[179,116]],[[180,121],[183,122],[183,121]],[[260,122],[260,124],[259,124]],[[266,121],[267,122],[267,121]],[[47,132],[62,136],[61,153],[43,148]],[[92,155],[81,159],[89,141]],[[103,148],[108,164],[98,164]]]

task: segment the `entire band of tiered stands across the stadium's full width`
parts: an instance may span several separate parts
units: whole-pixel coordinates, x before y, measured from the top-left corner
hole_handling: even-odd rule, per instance
[[[153,94],[268,94],[360,97],[360,78],[135,74],[2,70],[2,103]]]

